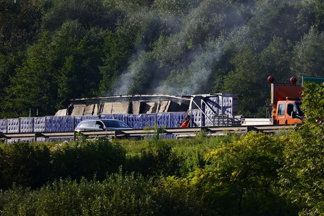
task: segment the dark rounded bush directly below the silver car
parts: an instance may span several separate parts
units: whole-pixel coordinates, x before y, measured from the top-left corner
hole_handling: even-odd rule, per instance
[[[79,140],[59,144],[52,152],[53,178],[92,179],[94,173],[98,180],[104,180],[107,173],[118,171],[126,160],[126,150],[119,143],[108,139]]]

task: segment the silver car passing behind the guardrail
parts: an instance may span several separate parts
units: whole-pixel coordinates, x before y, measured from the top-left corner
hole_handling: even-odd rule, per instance
[[[86,130],[128,130],[132,129],[125,122],[116,119],[85,119],[82,120],[75,131]]]

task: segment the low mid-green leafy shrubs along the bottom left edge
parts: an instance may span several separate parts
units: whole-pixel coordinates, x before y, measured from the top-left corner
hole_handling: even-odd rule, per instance
[[[39,190],[0,191],[0,215],[159,215],[153,179],[112,174],[103,182],[59,180]]]

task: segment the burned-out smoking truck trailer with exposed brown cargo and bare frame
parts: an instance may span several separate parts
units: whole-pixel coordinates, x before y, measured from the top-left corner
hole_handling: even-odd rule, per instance
[[[120,95],[71,100],[68,108],[55,116],[109,118],[122,120],[133,128],[153,126],[180,127],[186,116],[189,127],[228,126],[240,124],[235,94]],[[77,123],[77,122],[76,122]]]

